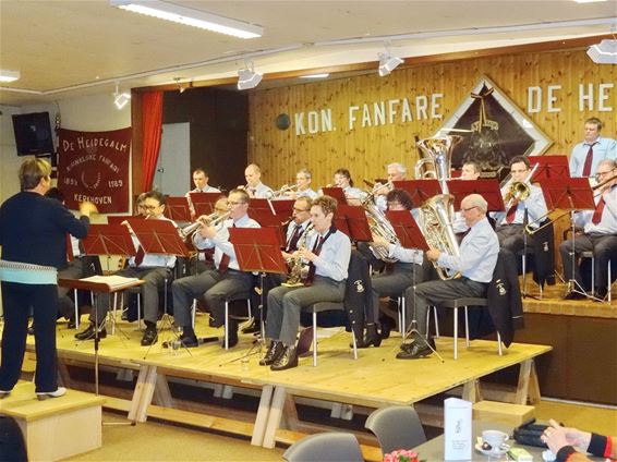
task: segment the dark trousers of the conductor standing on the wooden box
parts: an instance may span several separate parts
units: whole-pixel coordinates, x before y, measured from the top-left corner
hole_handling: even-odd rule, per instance
[[[32,308],[35,326],[36,391],[56,391],[58,389],[56,357],[57,285],[2,282],[2,307],[4,311],[4,330],[2,331],[0,390],[12,390],[20,378],[26,350],[28,313]]]

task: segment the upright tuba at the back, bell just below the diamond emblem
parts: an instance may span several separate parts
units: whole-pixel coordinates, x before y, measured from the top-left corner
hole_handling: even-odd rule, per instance
[[[415,178],[437,179],[441,184],[441,191],[447,193],[446,180],[450,178],[452,150],[461,141],[462,136],[459,135],[433,136],[419,141],[416,145],[424,157],[415,162]],[[430,169],[427,163],[432,163],[433,169]]]

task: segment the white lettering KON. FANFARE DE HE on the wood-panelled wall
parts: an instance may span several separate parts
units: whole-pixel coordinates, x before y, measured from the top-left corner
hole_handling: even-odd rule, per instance
[[[568,98],[578,98],[580,112],[613,112],[613,83],[581,83],[578,93],[567,93]],[[560,112],[565,102],[560,84],[529,86],[527,88],[527,113]],[[347,131],[377,127],[391,124],[404,124],[421,120],[441,120],[444,118],[443,93],[418,95],[414,98],[391,98],[362,105],[350,105],[342,115],[344,120],[335,120],[331,108],[301,111],[293,114],[295,136],[316,133],[336,132],[344,126]],[[286,126],[287,127],[287,126]],[[282,129],[282,127],[281,127]]]

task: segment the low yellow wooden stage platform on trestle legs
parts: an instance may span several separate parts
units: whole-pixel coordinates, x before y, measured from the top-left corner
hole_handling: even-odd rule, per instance
[[[511,392],[503,397],[520,404],[537,402],[540,388],[534,360],[552,350],[548,345],[513,343],[499,356],[494,341],[475,340],[467,350],[462,339],[459,340],[459,358],[455,361],[452,339],[441,337],[436,343],[443,363],[435,354],[423,360],[401,361],[395,358],[400,337],[392,333],[378,349],[359,350],[359,358],[354,361],[349,348],[351,335],[341,331],[319,340],[317,367],[306,357],[301,358],[297,368],[271,372],[258,365],[253,336],[240,336],[240,343],[227,352],[218,343],[207,343],[173,355],[161,346],[161,340],[171,338],[169,330],[164,331],[159,342],[148,351],[140,345],[142,333],[135,330],[135,324],[118,323],[118,326],[114,336],[108,335],[100,341],[100,367],[120,375],[130,375],[126,370],[133,370],[138,377],[136,382],[126,382],[131,388],[120,397],[117,390],[101,387],[101,394],[109,397],[106,406],[126,411],[131,421],[145,422],[153,416],[251,437],[253,445],[268,448],[277,441],[293,442],[304,433],[318,429],[298,418],[295,402],[302,399],[324,402],[332,408],[332,415],[338,413],[338,416],[350,406],[370,412],[392,404],[413,405],[452,389],[475,402],[482,397],[480,380],[483,377],[520,365],[518,381],[511,384]],[[220,333],[204,326],[207,326],[207,317],[197,316],[198,336]],[[59,324],[60,372],[69,388],[93,391],[92,384],[84,386],[70,374],[71,366],[92,369],[95,361],[93,341],[76,341],[74,333],[75,330]],[[28,351],[34,352],[32,338]],[[249,356],[247,363],[239,361],[250,351],[255,354]],[[259,405],[256,413],[249,416],[234,410],[211,414],[210,406],[186,403],[172,396],[169,386],[172,380],[190,380],[202,387],[214,384],[215,396],[223,398],[244,390],[257,394]]]

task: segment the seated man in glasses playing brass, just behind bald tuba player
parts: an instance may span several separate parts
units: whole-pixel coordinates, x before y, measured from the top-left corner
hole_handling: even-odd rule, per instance
[[[523,250],[525,238],[524,227],[529,222],[531,228],[537,228],[540,221],[546,216],[546,203],[542,189],[534,184],[529,184],[530,170],[529,159],[524,156],[516,156],[510,160],[510,174],[512,183],[519,183],[521,186],[527,184],[530,194],[512,194],[509,190],[504,196],[504,203],[508,208],[505,212],[496,212],[494,215],[497,228],[497,238],[501,248],[507,248],[515,255]],[[527,236],[527,244],[532,245],[532,236]]]

